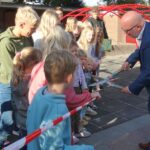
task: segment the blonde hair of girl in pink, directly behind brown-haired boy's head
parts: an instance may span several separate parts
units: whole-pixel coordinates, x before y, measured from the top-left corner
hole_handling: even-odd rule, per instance
[[[71,36],[62,27],[56,26],[47,37],[42,40],[43,57],[47,56],[52,50],[69,50]]]

